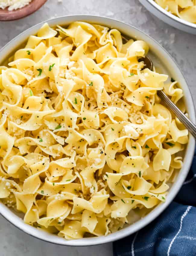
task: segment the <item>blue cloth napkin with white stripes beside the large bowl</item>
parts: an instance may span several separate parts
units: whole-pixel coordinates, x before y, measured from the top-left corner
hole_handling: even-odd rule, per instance
[[[135,234],[113,243],[115,256],[196,256],[196,152],[168,208]]]

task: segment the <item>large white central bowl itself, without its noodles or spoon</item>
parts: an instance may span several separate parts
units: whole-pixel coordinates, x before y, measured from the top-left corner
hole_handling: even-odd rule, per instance
[[[172,75],[172,77],[175,78],[175,80],[178,80],[180,82],[180,86],[184,91],[185,104],[186,104],[186,109],[188,111],[189,118],[191,119],[191,121],[195,123],[194,104],[193,104],[193,100],[192,100],[188,85],[185,81],[185,78],[182,75],[182,72],[180,71],[178,65],[175,63],[172,57],[166,52],[166,50],[161,45],[159,45],[156,41],[154,41],[150,36],[141,32],[139,29],[134,28],[133,26],[128,25],[126,23],[123,23],[114,19],[110,19],[110,18],[104,18],[104,17],[92,16],[92,15],[71,15],[71,16],[51,19],[51,20],[48,20],[47,22],[49,23],[49,25],[53,26],[56,24],[68,25],[74,21],[86,21],[86,22],[106,25],[110,28],[117,28],[123,34],[128,35],[131,38],[140,39],[147,42],[148,45],[150,46],[150,56],[152,58],[159,59],[159,61],[157,62],[157,65],[161,66],[162,69],[165,70],[168,74],[170,74],[169,70],[172,70],[172,74],[170,75]],[[43,23],[44,22],[41,22],[33,26],[32,28],[27,29],[26,31],[18,35],[16,38],[11,40],[11,42],[9,42],[7,45],[5,45],[5,47],[2,48],[0,51],[0,63],[3,60],[5,60],[6,57],[8,57],[11,54],[11,52],[14,51],[14,49],[19,47],[21,43],[23,43],[30,35],[36,34],[36,32],[43,25]],[[120,238],[123,238],[125,236],[128,236],[138,231],[139,229],[149,224],[171,203],[171,201],[174,199],[175,195],[178,193],[180,187],[182,186],[183,181],[185,180],[188,174],[189,168],[191,166],[193,154],[194,154],[194,147],[195,147],[195,140],[191,135],[189,135],[189,141],[188,141],[187,149],[185,151],[185,156],[184,156],[184,165],[179,172],[178,178],[176,179],[175,183],[172,185],[169,191],[166,202],[158,205],[153,211],[151,211],[143,219],[137,221],[134,224],[131,224],[126,228],[123,228],[122,230],[119,230],[107,236],[94,237],[94,238],[82,238],[79,240],[67,241],[64,238],[60,238],[56,235],[49,234],[44,231],[40,231],[28,224],[25,224],[23,220],[16,215],[16,212],[12,212],[9,208],[7,208],[2,203],[0,203],[0,214],[2,214],[2,216],[5,217],[9,222],[14,224],[17,228],[23,230],[27,234],[30,234],[36,238],[39,238],[41,240],[48,241],[51,243],[55,243],[55,244],[87,246],[87,245],[94,245],[94,244],[103,244],[103,243],[118,240]]]

